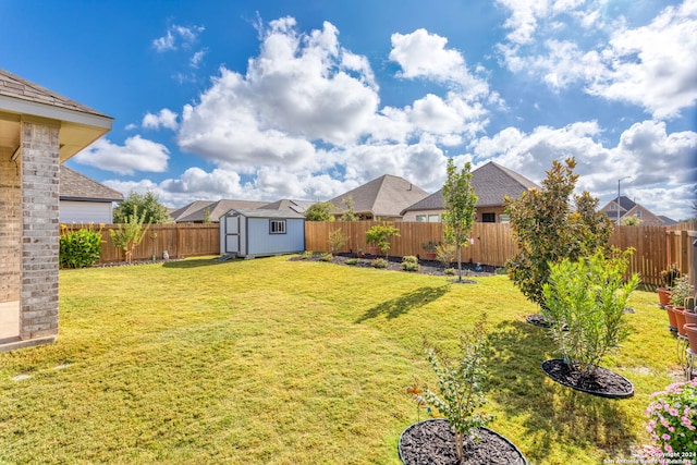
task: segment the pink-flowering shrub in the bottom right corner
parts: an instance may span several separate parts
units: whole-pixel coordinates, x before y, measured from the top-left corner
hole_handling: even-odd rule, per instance
[[[656,441],[653,453],[670,463],[694,463],[697,453],[697,379],[651,394],[646,430]],[[685,462],[682,462],[682,461]]]

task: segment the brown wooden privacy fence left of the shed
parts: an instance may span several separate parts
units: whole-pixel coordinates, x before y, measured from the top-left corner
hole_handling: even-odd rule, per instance
[[[68,225],[65,231],[78,230],[81,225]],[[98,229],[98,228],[96,228]],[[118,229],[107,224],[101,230],[101,256],[97,264],[123,260],[123,250],[111,243],[109,230]],[[220,253],[220,229],[215,224],[151,224],[140,245],[133,252],[133,260],[162,258],[167,250],[171,258],[215,255]]]

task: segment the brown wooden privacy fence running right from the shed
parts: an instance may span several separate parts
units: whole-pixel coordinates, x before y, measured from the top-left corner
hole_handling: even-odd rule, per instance
[[[329,233],[341,230],[346,236],[346,245],[342,252],[368,250],[366,231],[380,221],[306,221],[305,249],[328,252]],[[421,244],[428,241],[443,240],[442,223],[394,222],[400,231],[399,237],[390,240],[392,256],[424,256]],[[629,272],[641,274],[645,284],[662,285],[661,271],[669,262],[675,262],[683,273],[688,273],[693,253],[692,242],[695,240],[697,223],[681,223],[664,227],[616,227],[610,237],[610,244],[625,249],[634,247],[634,256],[629,264]],[[463,260],[501,267],[515,255],[517,248],[511,237],[511,225],[508,223],[475,223],[472,231],[473,244],[463,250]]]

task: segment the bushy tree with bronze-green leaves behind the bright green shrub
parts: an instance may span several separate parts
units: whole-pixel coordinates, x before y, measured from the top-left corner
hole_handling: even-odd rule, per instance
[[[518,199],[505,197],[511,217],[513,241],[518,253],[506,264],[509,277],[531,302],[545,306],[542,285],[548,281],[550,264],[564,258],[575,261],[599,248],[608,252],[612,224],[597,211],[598,199],[584,192],[571,196],[578,175],[576,161],[554,160],[542,181],[542,188],[524,192]]]

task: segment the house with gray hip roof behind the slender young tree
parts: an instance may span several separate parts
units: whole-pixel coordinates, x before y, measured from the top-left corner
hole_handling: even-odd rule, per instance
[[[472,172],[472,185],[477,194],[475,220],[485,223],[508,222],[503,198],[518,198],[537,184],[522,174],[489,161]],[[443,191],[440,189],[402,211],[404,221],[440,222],[445,211]]]

